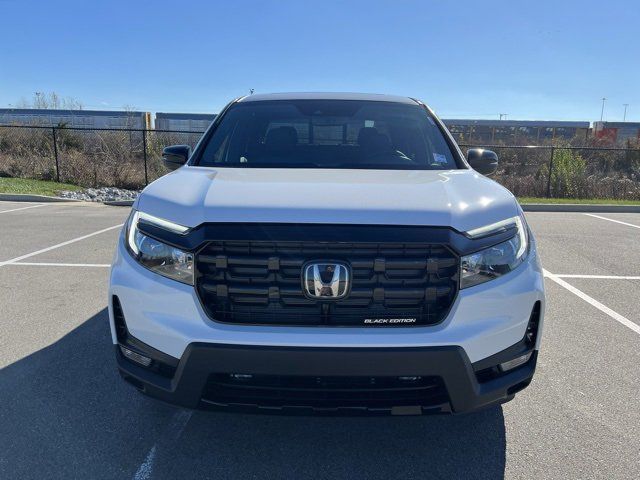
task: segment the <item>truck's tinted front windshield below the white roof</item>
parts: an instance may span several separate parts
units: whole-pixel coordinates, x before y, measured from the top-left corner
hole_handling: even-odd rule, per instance
[[[248,168],[458,168],[442,132],[420,105],[356,100],[237,103],[196,162]]]

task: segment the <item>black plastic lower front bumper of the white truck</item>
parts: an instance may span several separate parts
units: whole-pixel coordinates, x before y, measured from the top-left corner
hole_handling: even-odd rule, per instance
[[[495,363],[513,350],[494,355]],[[143,353],[154,358],[154,352]],[[474,365],[457,346],[310,348],[194,343],[179,361],[174,359],[175,364],[164,369],[137,365],[116,349],[125,380],[152,397],[187,408],[352,414],[461,413],[504,403],[531,382],[536,353],[513,371],[487,379],[478,372],[491,365],[493,357]],[[238,398],[232,398],[234,393]]]

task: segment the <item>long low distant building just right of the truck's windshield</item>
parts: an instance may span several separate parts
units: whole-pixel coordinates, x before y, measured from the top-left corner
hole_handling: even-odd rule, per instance
[[[545,120],[442,120],[460,143],[540,143],[555,138],[587,138],[589,122]]]

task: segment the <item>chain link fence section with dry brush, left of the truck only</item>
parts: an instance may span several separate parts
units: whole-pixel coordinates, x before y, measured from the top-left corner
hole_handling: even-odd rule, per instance
[[[0,125],[0,176],[138,189],[167,173],[165,146],[194,147],[202,133]]]

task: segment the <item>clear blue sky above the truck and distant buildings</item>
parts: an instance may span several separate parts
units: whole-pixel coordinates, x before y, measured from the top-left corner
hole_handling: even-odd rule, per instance
[[[0,106],[217,112],[256,92],[418,97],[443,117],[640,121],[627,1],[0,0]]]

